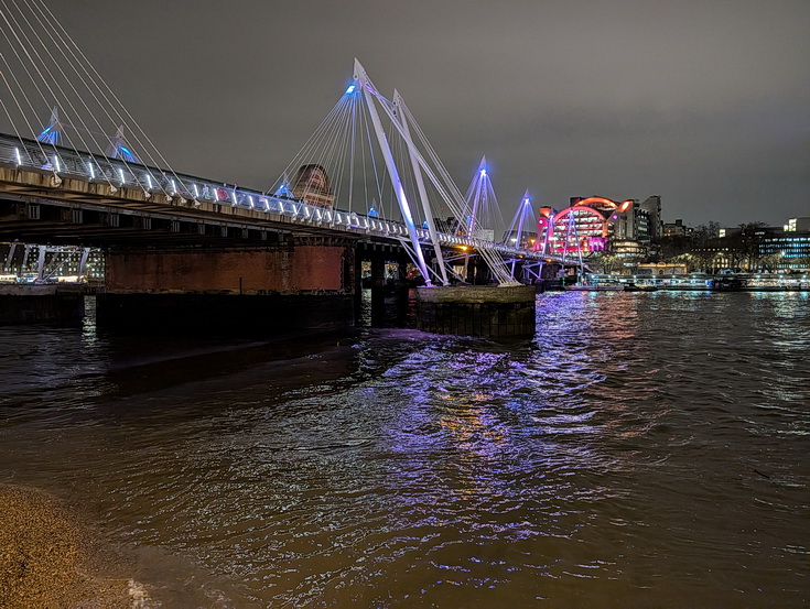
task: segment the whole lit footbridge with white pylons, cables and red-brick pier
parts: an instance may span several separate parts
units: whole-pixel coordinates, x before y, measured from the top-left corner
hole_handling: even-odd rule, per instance
[[[358,61],[274,183],[246,188],[175,171],[44,2],[0,14],[0,241],[102,248],[108,295],[345,296],[377,250],[429,287],[480,280],[471,265],[520,285],[562,262],[522,238],[528,195],[511,240],[496,239],[485,162],[463,195],[402,96]]]

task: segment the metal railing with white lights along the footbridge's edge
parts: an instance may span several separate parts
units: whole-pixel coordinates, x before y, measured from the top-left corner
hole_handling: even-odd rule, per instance
[[[69,175],[88,182],[109,183],[116,187],[141,189],[144,196],[163,194],[168,202],[174,197],[183,197],[188,200],[249,208],[284,217],[294,224],[337,228],[400,241],[409,238],[408,227],[397,220],[366,216],[356,211],[315,207],[260,191],[239,188],[236,185],[229,186],[227,183],[166,172],[158,167],[99,154],[78,153],[64,146],[1,133],[0,163],[54,172],[56,175]],[[431,244],[430,232],[426,228],[418,228],[417,233],[420,241]],[[521,250],[493,241],[446,232],[439,232],[439,241],[441,246],[449,248],[486,248],[507,258],[555,258],[543,257],[540,252],[532,250]]]

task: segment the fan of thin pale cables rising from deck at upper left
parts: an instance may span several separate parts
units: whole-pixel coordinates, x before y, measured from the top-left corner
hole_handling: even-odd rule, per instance
[[[20,141],[21,162],[52,171],[54,185],[61,184],[62,172],[89,171],[111,194],[131,184],[147,198],[152,193],[166,200],[194,198],[44,0],[0,0],[0,72],[7,85],[0,102]],[[47,124],[36,129],[45,112]]]

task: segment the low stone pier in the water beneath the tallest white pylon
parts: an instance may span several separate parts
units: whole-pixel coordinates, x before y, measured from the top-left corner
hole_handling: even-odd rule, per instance
[[[463,285],[417,289],[417,327],[435,334],[530,338],[534,286]]]

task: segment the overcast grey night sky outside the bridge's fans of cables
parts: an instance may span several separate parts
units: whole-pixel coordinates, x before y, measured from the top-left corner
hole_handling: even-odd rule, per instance
[[[808,0],[48,0],[176,171],[266,188],[352,80],[396,87],[510,217],[660,195],[663,218],[810,216]]]

